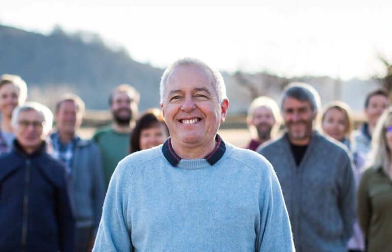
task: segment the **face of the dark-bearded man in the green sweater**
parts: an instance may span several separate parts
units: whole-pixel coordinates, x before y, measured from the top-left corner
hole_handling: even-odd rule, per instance
[[[120,125],[129,125],[133,113],[137,112],[137,104],[126,92],[113,94],[110,112],[114,120]]]

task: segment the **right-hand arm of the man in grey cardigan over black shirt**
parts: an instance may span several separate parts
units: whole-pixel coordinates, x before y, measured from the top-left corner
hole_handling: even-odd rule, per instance
[[[342,156],[338,163],[342,166],[337,167],[339,181],[338,207],[342,215],[344,225],[344,239],[348,242],[353,232],[353,225],[356,216],[355,200],[355,179],[352,168],[352,160],[347,154]]]

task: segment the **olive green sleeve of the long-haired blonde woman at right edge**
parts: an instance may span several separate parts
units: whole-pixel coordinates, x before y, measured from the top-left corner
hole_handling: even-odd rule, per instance
[[[371,168],[370,168],[371,169]],[[365,172],[358,187],[358,219],[365,236],[368,235],[369,222],[372,215],[369,193],[369,171]]]

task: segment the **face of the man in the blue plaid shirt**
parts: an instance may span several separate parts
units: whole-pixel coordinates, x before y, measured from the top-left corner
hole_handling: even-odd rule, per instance
[[[80,127],[82,114],[74,102],[66,100],[61,103],[55,114],[55,120],[60,133],[73,135]]]

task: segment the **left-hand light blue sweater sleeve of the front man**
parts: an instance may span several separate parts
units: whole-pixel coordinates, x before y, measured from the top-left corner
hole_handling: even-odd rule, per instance
[[[126,181],[130,167],[125,166],[120,162],[110,180],[93,251],[133,251],[127,226],[127,196],[124,195],[129,189]]]

